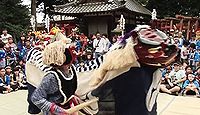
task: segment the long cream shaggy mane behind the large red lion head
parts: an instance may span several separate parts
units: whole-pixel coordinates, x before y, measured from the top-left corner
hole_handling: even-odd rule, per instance
[[[133,41],[132,39],[129,39],[124,48],[107,52],[102,65],[93,72],[92,76],[94,77],[90,81],[90,85],[97,86],[101,81],[103,81],[103,79],[105,79],[105,76],[109,71],[117,71],[126,67],[140,67],[133,47]]]

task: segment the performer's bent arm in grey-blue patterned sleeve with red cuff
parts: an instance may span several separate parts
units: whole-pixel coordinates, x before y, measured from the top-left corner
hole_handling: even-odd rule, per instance
[[[64,109],[53,102],[47,100],[47,94],[53,94],[58,91],[58,83],[53,74],[47,74],[40,86],[34,91],[31,100],[42,111],[53,114],[65,114]]]

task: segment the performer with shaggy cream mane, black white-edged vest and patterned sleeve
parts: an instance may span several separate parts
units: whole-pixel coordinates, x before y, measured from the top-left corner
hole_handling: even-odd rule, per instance
[[[46,73],[32,94],[32,102],[45,115],[69,114],[64,109],[69,108],[65,104],[77,88],[76,72],[71,66],[72,53],[66,44],[56,41],[45,47],[42,58],[44,64],[52,66],[52,70]]]

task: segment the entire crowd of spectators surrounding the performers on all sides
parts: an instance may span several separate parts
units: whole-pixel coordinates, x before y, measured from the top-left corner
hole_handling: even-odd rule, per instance
[[[186,40],[182,32],[167,32],[167,42],[180,48],[180,60],[162,68],[160,91],[168,94],[199,95],[200,89],[200,38],[192,36]],[[85,36],[72,31],[68,36],[75,46],[76,66],[84,66],[90,60],[105,54],[119,36],[108,38],[106,34],[96,33]],[[40,38],[35,34],[22,34],[14,42],[7,30],[0,37],[0,93],[26,89],[25,60],[28,51]],[[39,43],[40,44],[40,43]]]

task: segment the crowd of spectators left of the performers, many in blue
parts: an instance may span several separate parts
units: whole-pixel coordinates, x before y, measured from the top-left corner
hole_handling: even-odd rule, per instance
[[[25,56],[32,47],[29,39],[23,34],[19,42],[15,43],[6,29],[2,31],[0,36],[0,93],[27,89]]]

